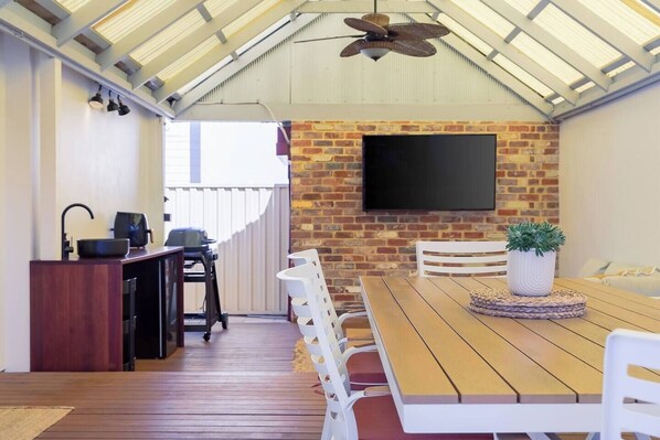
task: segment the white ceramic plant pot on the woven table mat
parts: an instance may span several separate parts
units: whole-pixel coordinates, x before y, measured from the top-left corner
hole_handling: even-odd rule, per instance
[[[507,282],[511,293],[524,297],[544,297],[552,291],[556,253],[536,256],[534,250],[509,251]]]

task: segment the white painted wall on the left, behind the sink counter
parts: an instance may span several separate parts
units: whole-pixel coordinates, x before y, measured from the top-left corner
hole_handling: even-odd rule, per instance
[[[64,206],[95,213],[70,212],[75,238],[111,236],[115,212],[139,211],[163,242],[161,122],[128,98],[127,116],[93,111],[95,88],[0,34],[0,371],[30,368],[29,262],[58,258]]]

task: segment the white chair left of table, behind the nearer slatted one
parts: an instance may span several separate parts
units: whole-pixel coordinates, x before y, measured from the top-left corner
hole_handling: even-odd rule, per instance
[[[354,342],[358,344],[364,344],[368,342],[373,342],[373,334],[369,329],[351,329],[350,337],[345,334],[343,326],[344,323],[351,319],[355,318],[366,318],[366,312],[364,310],[354,311],[354,312],[345,312],[341,315],[338,315],[337,310],[334,309],[334,304],[332,303],[332,298],[330,297],[330,291],[328,290],[328,285],[326,283],[326,277],[323,276],[323,269],[321,267],[321,260],[319,258],[319,253],[317,249],[306,249],[300,250],[294,254],[290,254],[288,258],[294,262],[295,266],[305,265],[307,262],[311,262],[318,269],[318,277],[321,288],[321,298],[320,303],[326,307],[330,321],[332,322],[332,326],[334,332],[337,333],[337,339],[339,340],[339,345],[344,350],[349,342]]]

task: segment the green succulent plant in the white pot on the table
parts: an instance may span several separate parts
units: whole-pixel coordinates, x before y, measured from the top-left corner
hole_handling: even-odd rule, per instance
[[[507,229],[508,250],[529,251],[534,249],[539,257],[542,257],[543,253],[558,250],[564,242],[566,242],[566,237],[562,229],[547,222],[524,222],[511,225]]]

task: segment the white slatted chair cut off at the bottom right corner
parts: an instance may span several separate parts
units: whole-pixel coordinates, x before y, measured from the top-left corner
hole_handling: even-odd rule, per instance
[[[620,440],[622,432],[635,432],[638,439],[660,437],[660,376],[658,380],[635,376],[631,366],[660,369],[660,334],[617,329],[607,336],[603,440]],[[624,405],[632,400],[645,405]]]

